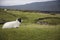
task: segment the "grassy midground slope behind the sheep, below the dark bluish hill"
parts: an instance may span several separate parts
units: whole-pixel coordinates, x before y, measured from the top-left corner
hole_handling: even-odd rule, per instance
[[[14,10],[7,10],[7,11],[0,11],[0,23],[2,23],[2,21],[6,22],[6,21],[11,21],[11,20],[16,20],[16,18],[22,18],[23,20],[25,20],[24,22],[27,23],[27,20],[29,20],[28,23],[35,23],[37,22],[36,20],[40,20],[43,19],[42,21],[48,21],[50,20],[50,22],[48,21],[48,23],[52,23],[52,20],[54,20],[54,23],[56,24],[60,24],[60,14],[55,14],[52,15],[52,13],[39,13],[39,12],[25,12],[25,11],[14,11]]]

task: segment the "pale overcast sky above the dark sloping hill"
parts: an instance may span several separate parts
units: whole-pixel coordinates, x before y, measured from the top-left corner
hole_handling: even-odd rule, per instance
[[[23,5],[32,2],[46,2],[55,0],[0,0],[0,6]]]

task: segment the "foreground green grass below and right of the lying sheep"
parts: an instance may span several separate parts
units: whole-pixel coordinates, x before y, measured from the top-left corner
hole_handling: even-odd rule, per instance
[[[21,25],[18,29],[1,29],[0,40],[60,40],[58,26],[34,25]]]

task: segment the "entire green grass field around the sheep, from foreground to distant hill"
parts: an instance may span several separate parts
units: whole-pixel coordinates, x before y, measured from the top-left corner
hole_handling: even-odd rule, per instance
[[[0,24],[0,40],[60,40],[59,24],[45,25],[35,23],[36,19],[43,17],[60,17],[60,14],[50,15],[14,10],[0,11],[0,18],[3,18],[5,21],[13,21],[16,18],[22,18],[23,20],[19,28],[2,29],[3,24]],[[54,22],[60,22],[60,19],[54,20]],[[53,23],[53,21],[48,22]]]

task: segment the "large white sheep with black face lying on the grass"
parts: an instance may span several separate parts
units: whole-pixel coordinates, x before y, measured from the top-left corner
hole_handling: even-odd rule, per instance
[[[21,24],[21,18],[18,18],[16,19],[16,21],[6,22],[2,28],[3,29],[4,28],[18,28],[20,24]]]

